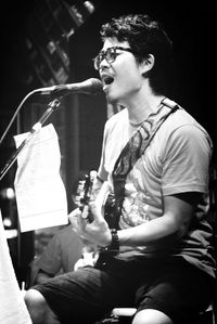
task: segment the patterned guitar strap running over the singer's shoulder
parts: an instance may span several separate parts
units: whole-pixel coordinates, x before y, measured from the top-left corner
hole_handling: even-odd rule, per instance
[[[122,212],[125,197],[125,183],[127,174],[130,172],[136,161],[144,154],[146,147],[153,140],[156,131],[168,116],[179,108],[178,104],[169,99],[162,100],[156,113],[151,114],[145,119],[133,135],[129,139],[126,146],[117,158],[112,173],[114,182],[115,208],[111,224],[118,229],[119,216]]]

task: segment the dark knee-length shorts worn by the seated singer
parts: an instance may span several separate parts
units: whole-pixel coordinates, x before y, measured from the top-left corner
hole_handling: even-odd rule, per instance
[[[212,281],[182,258],[118,260],[78,269],[31,288],[61,323],[91,324],[115,307],[159,310],[174,324],[192,324],[212,300]]]

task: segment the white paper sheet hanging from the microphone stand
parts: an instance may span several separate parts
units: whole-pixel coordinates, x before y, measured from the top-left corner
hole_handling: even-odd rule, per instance
[[[16,147],[28,137],[14,137]],[[67,199],[60,174],[61,153],[54,127],[35,131],[17,157],[14,186],[21,232],[66,224]]]

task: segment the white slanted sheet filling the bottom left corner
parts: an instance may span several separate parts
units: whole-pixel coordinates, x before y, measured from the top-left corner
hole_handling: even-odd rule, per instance
[[[0,324],[31,324],[18,287],[0,210]]]

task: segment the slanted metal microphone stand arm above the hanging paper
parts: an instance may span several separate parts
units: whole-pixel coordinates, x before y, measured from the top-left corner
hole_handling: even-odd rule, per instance
[[[10,168],[13,166],[13,164],[16,161],[18,154],[22,152],[22,150],[26,146],[27,143],[30,142],[34,133],[39,130],[42,125],[46,122],[46,120],[50,117],[50,115],[59,108],[61,102],[58,99],[54,99],[48,104],[47,111],[43,113],[43,115],[40,117],[40,119],[33,126],[27,138],[21,143],[21,145],[16,148],[14,154],[12,154],[11,158],[7,161],[5,166],[0,171],[0,181],[2,178],[7,174],[7,172],[10,170]]]

